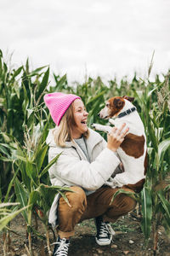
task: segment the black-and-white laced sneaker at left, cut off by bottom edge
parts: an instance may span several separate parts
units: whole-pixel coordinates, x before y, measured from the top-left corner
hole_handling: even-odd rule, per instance
[[[54,242],[53,256],[67,256],[70,246],[70,240],[66,238],[58,237],[57,241]]]

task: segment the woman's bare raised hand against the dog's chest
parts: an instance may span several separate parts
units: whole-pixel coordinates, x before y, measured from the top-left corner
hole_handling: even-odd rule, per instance
[[[112,151],[116,152],[117,148],[121,145],[124,140],[124,137],[129,131],[129,128],[126,128],[125,131],[122,131],[126,124],[122,124],[122,126],[118,129],[113,127],[111,132],[107,136],[107,148],[111,149]]]

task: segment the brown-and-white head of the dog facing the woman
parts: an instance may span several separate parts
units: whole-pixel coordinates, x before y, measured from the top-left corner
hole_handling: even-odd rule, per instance
[[[101,119],[111,119],[118,115],[125,106],[125,100],[133,102],[134,98],[129,96],[115,96],[105,103],[105,108],[98,113]]]

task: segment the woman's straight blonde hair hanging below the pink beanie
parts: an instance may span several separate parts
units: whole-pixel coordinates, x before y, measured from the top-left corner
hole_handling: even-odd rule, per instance
[[[54,142],[59,146],[64,148],[65,142],[73,141],[72,137],[72,126],[76,125],[74,114],[73,114],[73,102],[70,107],[66,110],[64,116],[60,120],[59,126],[54,129]],[[88,138],[89,131],[83,134],[84,137]]]

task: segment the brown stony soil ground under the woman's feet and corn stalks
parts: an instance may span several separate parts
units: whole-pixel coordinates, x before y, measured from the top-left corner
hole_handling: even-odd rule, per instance
[[[77,224],[76,235],[71,238],[69,256],[151,256],[154,255],[152,250],[152,239],[149,245],[144,249],[144,236],[140,229],[139,218],[133,213],[124,218],[120,218],[116,224],[111,224],[116,231],[116,235],[110,246],[100,247],[96,244],[94,220],[86,220]],[[26,252],[26,224],[20,215],[11,222],[10,228],[19,235],[10,232],[10,245],[8,256],[29,256]],[[43,232],[40,227],[40,232]],[[0,235],[0,241],[3,241],[3,235]],[[50,242],[54,242],[53,232],[50,231]],[[35,256],[48,255],[45,241],[35,237],[32,238],[32,248]],[[53,246],[51,246],[53,250]],[[0,242],[0,255],[3,253],[3,243]],[[162,227],[159,228],[158,250],[155,255],[170,256],[170,238],[166,236]]]

